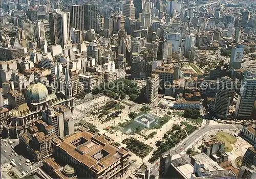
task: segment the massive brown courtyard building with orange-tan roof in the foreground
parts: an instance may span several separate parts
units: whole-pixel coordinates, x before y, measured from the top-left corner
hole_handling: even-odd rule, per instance
[[[53,141],[53,156],[83,178],[122,178],[129,170],[130,151],[111,144],[105,135],[80,131]]]

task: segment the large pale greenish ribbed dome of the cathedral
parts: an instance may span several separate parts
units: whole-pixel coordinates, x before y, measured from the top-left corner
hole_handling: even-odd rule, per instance
[[[35,83],[27,89],[27,99],[29,103],[43,103],[48,97],[48,90],[45,85]]]

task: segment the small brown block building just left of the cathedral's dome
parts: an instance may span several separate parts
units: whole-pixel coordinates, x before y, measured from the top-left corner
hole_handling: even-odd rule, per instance
[[[17,90],[11,90],[7,93],[8,102],[11,109],[17,108],[19,105],[25,103],[25,97],[23,93],[20,93]]]

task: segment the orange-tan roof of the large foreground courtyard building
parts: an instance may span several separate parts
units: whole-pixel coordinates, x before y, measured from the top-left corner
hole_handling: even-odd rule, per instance
[[[121,156],[129,155],[126,148],[117,148],[110,144],[111,140],[105,135],[94,135],[88,131],[80,131],[62,139],[57,138],[53,143],[65,150],[75,160],[92,167],[99,173],[120,160]]]

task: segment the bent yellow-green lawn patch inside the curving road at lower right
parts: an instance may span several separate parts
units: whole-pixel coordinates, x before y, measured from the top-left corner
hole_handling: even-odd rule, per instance
[[[237,138],[233,135],[225,132],[219,132],[217,133],[217,139],[222,140],[225,142],[225,152],[230,152],[233,150],[233,147],[231,144],[234,144],[237,142]]]

